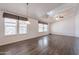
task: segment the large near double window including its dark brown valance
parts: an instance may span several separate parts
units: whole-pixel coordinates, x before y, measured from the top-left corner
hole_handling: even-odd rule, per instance
[[[27,23],[29,24],[29,21],[27,18],[9,14],[9,13],[4,13],[3,18],[4,18],[5,35],[27,33]]]

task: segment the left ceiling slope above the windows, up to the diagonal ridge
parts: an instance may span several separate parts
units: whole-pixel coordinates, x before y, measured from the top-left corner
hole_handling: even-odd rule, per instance
[[[29,3],[29,17],[41,19],[47,16],[47,12],[61,6],[61,3]],[[11,12],[17,15],[27,16],[26,3],[0,3],[0,10]]]

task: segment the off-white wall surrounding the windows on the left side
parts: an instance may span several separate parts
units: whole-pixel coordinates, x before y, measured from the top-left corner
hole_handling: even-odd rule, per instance
[[[5,45],[13,42],[18,42],[22,40],[27,40],[30,38],[35,38],[42,35],[47,35],[47,33],[39,33],[38,32],[38,21],[35,19],[29,19],[31,22],[30,25],[28,25],[28,33],[25,35],[17,34],[17,35],[11,35],[11,36],[5,36],[4,35],[4,20],[3,20],[3,11],[0,11],[0,45]]]

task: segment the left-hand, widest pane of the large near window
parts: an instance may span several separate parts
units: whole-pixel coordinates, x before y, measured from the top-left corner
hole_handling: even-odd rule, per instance
[[[4,18],[5,35],[14,35],[17,33],[17,20]]]

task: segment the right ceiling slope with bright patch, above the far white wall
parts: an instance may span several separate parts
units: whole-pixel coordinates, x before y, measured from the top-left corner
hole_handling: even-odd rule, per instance
[[[49,16],[47,18],[42,17],[42,19],[43,19],[43,21],[47,21],[49,23],[55,23],[55,22],[59,22],[61,20],[65,20],[68,17],[75,15],[78,6],[79,6],[79,4],[77,4],[77,3],[62,4],[61,6],[58,6],[57,8],[48,12]],[[60,15],[63,16],[64,18],[59,19],[59,21],[57,21],[55,16],[60,16]]]

